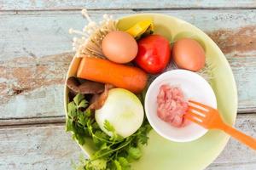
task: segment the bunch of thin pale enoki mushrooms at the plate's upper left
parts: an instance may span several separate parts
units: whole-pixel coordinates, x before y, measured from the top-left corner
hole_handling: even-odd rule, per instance
[[[70,34],[78,34],[81,37],[73,37],[73,50],[76,51],[75,56],[96,56],[104,58],[102,54],[102,39],[110,31],[117,31],[117,21],[113,20],[112,15],[103,14],[103,20],[96,23],[90,19],[87,10],[82,10],[82,15],[88,21],[83,31],[77,31],[73,28],[69,29]]]

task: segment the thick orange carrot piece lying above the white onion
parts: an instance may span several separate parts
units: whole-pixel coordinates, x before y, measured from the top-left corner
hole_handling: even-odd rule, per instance
[[[92,57],[84,57],[81,60],[77,77],[113,84],[117,88],[125,88],[133,93],[142,92],[148,82],[147,74],[137,67]]]

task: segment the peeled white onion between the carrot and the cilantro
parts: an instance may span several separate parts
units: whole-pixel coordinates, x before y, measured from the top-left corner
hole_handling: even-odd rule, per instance
[[[96,110],[96,122],[102,131],[105,120],[114,127],[117,134],[126,138],[135,133],[143,123],[144,111],[141,101],[135,94],[123,88],[113,88],[108,92],[108,98],[101,109]]]

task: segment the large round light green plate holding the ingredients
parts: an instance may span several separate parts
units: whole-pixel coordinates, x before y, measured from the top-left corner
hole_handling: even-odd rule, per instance
[[[119,29],[126,30],[145,19],[154,21],[154,32],[174,42],[181,37],[192,37],[201,43],[206,51],[207,61],[213,66],[212,88],[218,101],[218,111],[225,122],[234,124],[236,120],[237,92],[230,65],[218,46],[203,31],[188,22],[165,14],[132,14],[119,20]],[[67,77],[75,76],[80,59],[74,58]],[[66,87],[66,86],[65,86]],[[64,105],[67,113],[67,87]],[[163,139],[152,131],[148,145],[143,148],[143,157],[132,163],[136,170],[199,170],[207,167],[224,150],[229,136],[218,130],[210,130],[206,135],[193,142],[176,143]],[[89,140],[81,148],[90,156],[93,144]]]

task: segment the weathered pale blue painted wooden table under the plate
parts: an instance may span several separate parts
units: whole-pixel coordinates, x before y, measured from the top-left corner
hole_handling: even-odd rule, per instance
[[[0,0],[0,169],[71,169],[81,150],[64,132],[63,84],[73,58],[70,26],[160,13],[212,37],[229,60],[239,95],[236,127],[256,136],[256,1]],[[254,151],[233,139],[207,170],[256,169]]]

